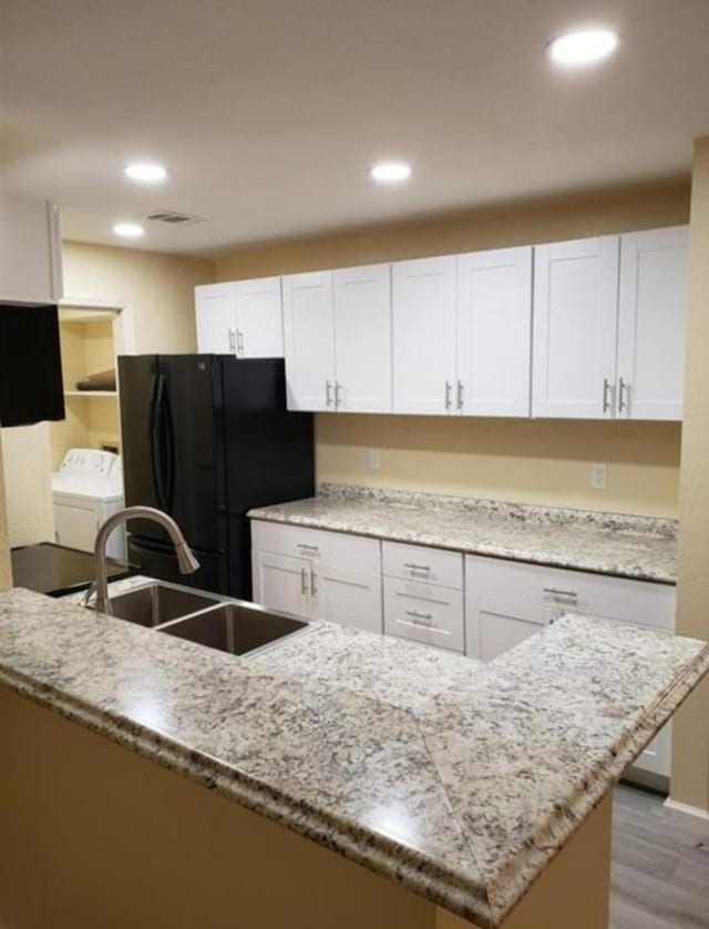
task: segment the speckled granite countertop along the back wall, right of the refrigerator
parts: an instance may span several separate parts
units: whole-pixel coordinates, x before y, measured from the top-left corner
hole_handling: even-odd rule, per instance
[[[321,484],[253,519],[674,584],[677,521]]]

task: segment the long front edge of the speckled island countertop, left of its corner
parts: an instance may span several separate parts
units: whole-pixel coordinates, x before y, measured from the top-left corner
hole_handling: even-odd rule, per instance
[[[40,684],[0,665],[0,685],[117,745],[129,748],[162,767],[182,774],[207,789],[316,841],[343,858],[393,880],[446,910],[477,923],[497,929],[487,889],[444,869],[424,855],[373,831],[364,843],[361,827],[343,817],[330,817],[302,800],[289,797],[263,782],[219,762],[199,749],[189,748],[156,729],[130,722],[119,714],[99,709],[55,687]]]

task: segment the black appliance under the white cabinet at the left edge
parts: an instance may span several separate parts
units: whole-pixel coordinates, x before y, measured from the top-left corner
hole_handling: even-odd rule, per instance
[[[0,426],[64,419],[55,306],[0,304]]]

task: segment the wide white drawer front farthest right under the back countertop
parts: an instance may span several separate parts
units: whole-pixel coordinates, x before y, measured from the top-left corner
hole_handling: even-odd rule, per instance
[[[669,584],[466,555],[465,590],[558,608],[563,613],[675,629],[676,589]]]

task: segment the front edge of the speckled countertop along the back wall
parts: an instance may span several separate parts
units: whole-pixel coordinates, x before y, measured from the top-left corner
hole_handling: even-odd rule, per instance
[[[521,561],[528,564],[543,564],[551,568],[563,568],[568,571],[586,571],[592,574],[605,574],[613,578],[627,578],[633,581],[647,581],[656,584],[667,584],[670,586],[677,585],[677,578],[674,574],[661,571],[644,571],[641,568],[627,569],[624,571],[609,571],[598,562],[592,559],[584,561],[584,559],[564,559],[549,555],[540,555],[537,552],[526,549],[505,549],[497,545],[486,545],[484,543],[477,545],[451,545],[445,541],[436,539],[435,537],[422,535],[417,540],[410,539],[405,533],[398,534],[395,531],[383,534],[381,532],[366,532],[362,529],[350,529],[332,525],[327,519],[317,519],[315,517],[302,515],[286,515],[280,512],[274,512],[268,508],[257,507],[249,510],[247,513],[249,519],[263,520],[264,522],[276,522],[284,525],[300,525],[304,529],[320,529],[325,532],[339,532],[345,535],[360,535],[364,539],[381,539],[387,542],[401,542],[409,545],[423,545],[425,548],[444,549],[445,551],[460,552],[461,554],[479,554],[486,558],[497,558],[504,561]]]

